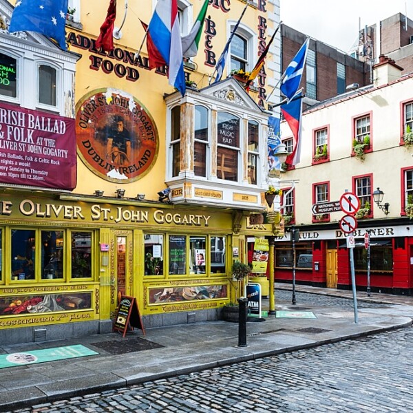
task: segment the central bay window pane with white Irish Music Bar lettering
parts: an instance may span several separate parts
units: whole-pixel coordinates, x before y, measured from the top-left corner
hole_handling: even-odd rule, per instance
[[[227,112],[218,112],[217,177],[238,180],[240,153],[240,118]]]

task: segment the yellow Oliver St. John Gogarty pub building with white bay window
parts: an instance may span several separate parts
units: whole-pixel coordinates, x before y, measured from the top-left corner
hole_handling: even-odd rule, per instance
[[[182,35],[203,3],[178,1]],[[0,0],[0,343],[111,332],[122,295],[145,328],[220,319],[240,295],[233,261],[282,233],[277,213],[251,219],[268,210],[273,52],[248,91],[235,79],[264,50],[279,1],[210,0],[184,96],[149,67],[140,20],[156,1],[117,2],[110,52],[96,47],[99,4],[69,1],[63,51],[10,33],[14,6]]]

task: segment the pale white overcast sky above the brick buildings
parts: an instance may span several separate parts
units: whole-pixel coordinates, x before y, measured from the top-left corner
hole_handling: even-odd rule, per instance
[[[280,0],[281,20],[299,32],[348,52],[359,28],[396,13],[413,20],[413,0]]]

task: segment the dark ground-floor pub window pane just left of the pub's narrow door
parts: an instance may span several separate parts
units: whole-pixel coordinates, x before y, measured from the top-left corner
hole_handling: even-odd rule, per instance
[[[92,233],[72,231],[72,278],[92,277]]]

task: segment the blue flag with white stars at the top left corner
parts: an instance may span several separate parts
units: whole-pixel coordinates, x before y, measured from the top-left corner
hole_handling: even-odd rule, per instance
[[[9,32],[38,32],[51,37],[66,50],[68,0],[18,0],[10,20]]]

